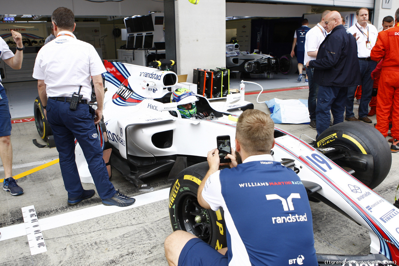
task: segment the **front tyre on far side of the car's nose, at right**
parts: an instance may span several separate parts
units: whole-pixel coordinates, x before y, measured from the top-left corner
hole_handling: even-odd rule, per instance
[[[333,125],[320,134],[315,147],[343,148],[339,154],[326,156],[341,167],[353,169],[352,175],[370,189],[377,187],[391,169],[392,155],[386,139],[375,127],[364,122]]]

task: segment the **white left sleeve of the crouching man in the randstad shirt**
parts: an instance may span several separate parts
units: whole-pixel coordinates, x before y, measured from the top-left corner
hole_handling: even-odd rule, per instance
[[[220,170],[210,175],[202,190],[203,199],[211,206],[211,209],[215,211],[221,207],[221,202],[223,202],[219,173]]]

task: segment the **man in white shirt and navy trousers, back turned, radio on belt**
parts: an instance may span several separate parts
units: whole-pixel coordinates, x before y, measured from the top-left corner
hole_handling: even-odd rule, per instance
[[[64,7],[51,15],[54,42],[43,46],[35,62],[33,77],[38,79],[38,90],[44,113],[53,131],[59,153],[59,166],[68,204],[76,205],[94,196],[95,191],[84,190],[75,163],[75,141],[82,147],[97,193],[104,205],[128,206],[133,198],[116,191],[109,181],[103,150],[95,124],[103,117],[104,87],[101,74],[106,72],[103,63],[91,44],[76,39],[75,17]],[[93,79],[97,97],[94,111],[87,102],[91,99]],[[71,104],[73,93],[79,96],[77,105]]]

